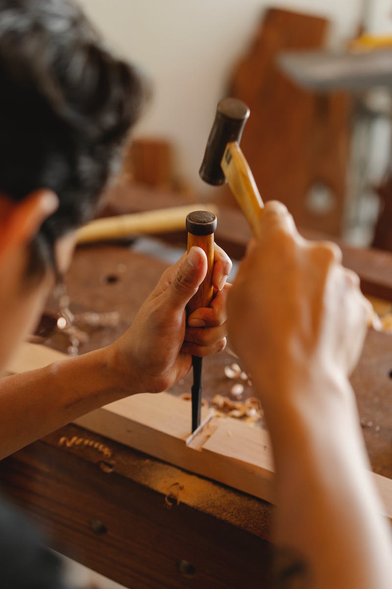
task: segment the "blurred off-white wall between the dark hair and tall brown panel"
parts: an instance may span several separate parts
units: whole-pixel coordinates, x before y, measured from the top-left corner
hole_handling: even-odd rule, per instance
[[[170,140],[177,170],[199,192],[206,190],[198,170],[217,101],[263,9],[274,5],[325,15],[333,21],[336,45],[356,30],[362,2],[81,0],[109,44],[142,65],[154,81],[155,97],[135,135]]]

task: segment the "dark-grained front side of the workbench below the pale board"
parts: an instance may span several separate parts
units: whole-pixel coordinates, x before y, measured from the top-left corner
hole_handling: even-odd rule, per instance
[[[59,445],[64,437],[109,445],[112,471],[91,448]],[[76,426],[0,462],[2,488],[49,545],[125,587],[267,589],[266,506],[195,479]],[[195,506],[187,501],[194,495]],[[189,577],[182,560],[194,567]]]

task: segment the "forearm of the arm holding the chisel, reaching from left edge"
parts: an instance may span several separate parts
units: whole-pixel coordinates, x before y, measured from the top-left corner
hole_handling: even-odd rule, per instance
[[[131,372],[131,371],[130,371]],[[113,348],[0,379],[0,458],[89,411],[143,392],[116,370]]]

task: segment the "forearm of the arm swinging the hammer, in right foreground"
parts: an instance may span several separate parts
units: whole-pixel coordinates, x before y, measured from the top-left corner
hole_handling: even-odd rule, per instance
[[[349,382],[291,379],[284,395],[280,408],[265,408],[277,471],[277,544],[292,552],[292,564],[303,561],[297,570],[307,569],[312,589],[387,589],[390,530]]]

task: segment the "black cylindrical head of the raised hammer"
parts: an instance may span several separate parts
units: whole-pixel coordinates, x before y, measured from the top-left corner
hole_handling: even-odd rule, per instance
[[[225,184],[220,162],[225,153],[227,143],[240,143],[243,128],[249,118],[249,108],[237,98],[223,98],[218,103],[215,121],[213,122],[202,166],[200,178],[208,184]]]

